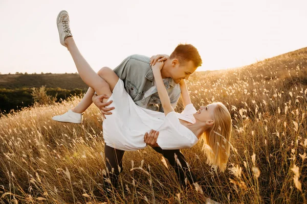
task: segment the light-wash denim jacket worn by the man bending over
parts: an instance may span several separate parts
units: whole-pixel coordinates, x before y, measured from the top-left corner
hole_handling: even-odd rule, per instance
[[[153,86],[153,73],[149,65],[150,58],[142,55],[131,55],[127,57],[114,71],[123,80],[125,89],[135,103],[143,108],[153,111],[164,112],[157,92],[157,87],[149,96],[144,97],[144,93]],[[164,81],[165,88],[170,98],[173,108],[176,107],[180,97],[180,85],[171,78]]]

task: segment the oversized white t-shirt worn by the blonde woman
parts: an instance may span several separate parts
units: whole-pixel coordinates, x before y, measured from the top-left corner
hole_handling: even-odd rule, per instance
[[[192,104],[185,107],[182,113],[164,113],[148,110],[136,105],[124,88],[121,79],[114,87],[108,100],[114,107],[111,115],[105,115],[103,138],[106,145],[116,149],[131,151],[146,146],[144,134],[150,130],[159,131],[157,143],[162,149],[190,148],[198,138],[179,119],[195,123],[196,112]]]

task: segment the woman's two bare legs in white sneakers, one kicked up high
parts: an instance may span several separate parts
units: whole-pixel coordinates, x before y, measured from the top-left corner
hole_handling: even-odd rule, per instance
[[[60,37],[60,43],[67,47],[70,51],[77,70],[80,74],[81,79],[90,86],[89,90],[86,92],[83,99],[80,103],[72,110],[69,110],[67,113],[59,116],[54,116],[52,119],[62,122],[74,122],[81,123],[82,121],[82,112],[84,112],[91,104],[92,97],[94,95],[94,89],[98,94],[105,94],[110,96],[112,94],[113,88],[118,81],[117,75],[114,73],[112,69],[107,67],[103,67],[98,72],[101,79],[96,72],[91,68],[91,66],[86,62],[81,53],[76,46],[76,43],[72,37],[72,33],[70,31],[70,23],[69,23],[69,15],[67,11],[61,11],[57,16],[57,27]],[[110,84],[110,86],[109,86]],[[91,88],[92,87],[92,88]],[[110,90],[111,88],[111,90]],[[107,98],[103,99],[103,102]],[[72,120],[72,121],[70,121]]]

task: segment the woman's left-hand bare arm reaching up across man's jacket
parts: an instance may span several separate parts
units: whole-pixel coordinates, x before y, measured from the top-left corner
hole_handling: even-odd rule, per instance
[[[157,90],[161,100],[161,105],[164,109],[164,115],[166,116],[169,112],[174,111],[174,109],[171,107],[170,99],[162,80],[161,69],[163,65],[163,62],[157,62],[155,65],[152,65],[151,68],[153,72],[153,77],[155,77],[155,81],[157,84]]]

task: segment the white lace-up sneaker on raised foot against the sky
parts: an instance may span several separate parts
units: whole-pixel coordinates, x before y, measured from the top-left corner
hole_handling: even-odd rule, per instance
[[[58,32],[60,36],[60,43],[65,46],[64,40],[68,36],[73,36],[69,27],[69,15],[67,11],[60,11],[56,19],[56,24],[58,27]],[[66,46],[65,46],[66,47]]]

